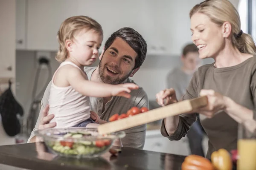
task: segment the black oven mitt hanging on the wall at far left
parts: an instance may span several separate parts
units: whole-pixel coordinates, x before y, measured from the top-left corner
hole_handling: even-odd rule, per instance
[[[7,135],[15,136],[20,133],[20,122],[17,119],[17,114],[23,116],[23,108],[13,96],[11,85],[12,83],[9,82],[9,88],[0,96],[0,114]]]

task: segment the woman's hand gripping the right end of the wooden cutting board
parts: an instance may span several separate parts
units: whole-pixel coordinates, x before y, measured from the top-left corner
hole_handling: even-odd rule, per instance
[[[198,113],[204,114],[208,118],[212,118],[217,112],[223,111],[227,107],[228,97],[219,94],[213,90],[202,89],[200,96],[207,96],[208,104],[204,108],[199,108]]]

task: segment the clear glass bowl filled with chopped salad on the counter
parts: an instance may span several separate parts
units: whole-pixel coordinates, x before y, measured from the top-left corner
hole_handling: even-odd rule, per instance
[[[70,127],[37,130],[48,149],[65,157],[93,158],[107,152],[114,140],[125,137],[124,131],[99,135],[97,128]]]

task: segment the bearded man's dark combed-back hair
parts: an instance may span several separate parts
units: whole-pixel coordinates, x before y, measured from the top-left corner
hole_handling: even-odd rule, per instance
[[[135,68],[139,68],[145,60],[147,54],[147,43],[145,42],[142,35],[140,35],[133,28],[124,27],[120,28],[108,38],[105,43],[105,50],[108,49],[111,44],[116,40],[116,38],[121,38],[131,46],[131,48],[138,54],[135,59]]]

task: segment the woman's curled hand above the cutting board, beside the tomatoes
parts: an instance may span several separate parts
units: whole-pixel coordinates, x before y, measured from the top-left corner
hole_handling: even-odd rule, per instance
[[[161,106],[166,106],[178,102],[175,90],[173,88],[165,89],[156,94],[157,103]]]

